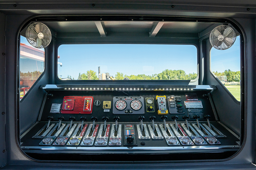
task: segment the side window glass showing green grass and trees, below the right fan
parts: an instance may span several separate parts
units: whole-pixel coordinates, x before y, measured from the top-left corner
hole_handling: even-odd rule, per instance
[[[211,49],[211,71],[240,101],[240,36],[226,50]]]

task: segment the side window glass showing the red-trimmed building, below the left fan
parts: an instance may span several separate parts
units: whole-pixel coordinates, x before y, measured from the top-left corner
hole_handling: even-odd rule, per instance
[[[20,36],[20,99],[44,71],[44,48],[32,47],[26,37]]]

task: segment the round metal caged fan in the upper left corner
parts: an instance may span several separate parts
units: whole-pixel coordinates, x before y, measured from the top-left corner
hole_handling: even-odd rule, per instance
[[[45,48],[51,42],[51,31],[45,24],[34,22],[27,28],[26,38],[33,47]]]

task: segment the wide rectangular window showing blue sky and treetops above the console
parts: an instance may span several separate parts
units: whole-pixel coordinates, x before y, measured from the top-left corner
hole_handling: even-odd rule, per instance
[[[197,48],[168,44],[79,44],[58,48],[62,80],[194,80]]]

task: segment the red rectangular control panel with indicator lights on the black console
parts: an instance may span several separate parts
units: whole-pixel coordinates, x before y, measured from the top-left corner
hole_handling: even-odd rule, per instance
[[[60,113],[91,114],[93,106],[92,96],[65,96]]]

